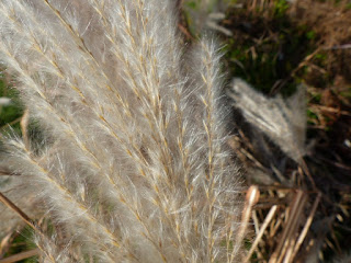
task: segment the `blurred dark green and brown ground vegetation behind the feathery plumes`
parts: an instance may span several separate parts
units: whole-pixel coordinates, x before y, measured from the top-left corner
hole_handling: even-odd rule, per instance
[[[178,7],[179,30],[186,43],[214,32],[223,44],[228,80],[239,77],[269,98],[290,96],[301,83],[307,90],[306,132],[312,150],[305,157],[306,167],[282,152],[275,156],[276,167],[263,160],[245,124],[234,136],[240,144],[238,160],[253,171],[247,184],[258,184],[261,194],[252,208],[248,251],[263,222],[269,222],[250,261],[328,262],[351,251],[351,1],[178,0]],[[7,133],[12,127],[21,135],[23,108],[12,88],[12,77],[3,71],[0,129]],[[258,182],[260,173],[269,179]],[[294,224],[290,213],[296,213],[292,232],[286,230]],[[30,236],[26,228],[12,237],[10,245],[1,244],[0,259],[30,249],[25,241]],[[301,237],[303,248],[286,258],[288,245],[296,247]],[[281,256],[275,259],[278,252]]]

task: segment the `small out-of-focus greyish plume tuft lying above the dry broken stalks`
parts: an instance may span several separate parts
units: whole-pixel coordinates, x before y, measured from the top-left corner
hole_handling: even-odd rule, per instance
[[[306,102],[305,90],[283,100],[281,95],[265,98],[241,79],[234,79],[228,92],[245,118],[264,133],[283,152],[296,162],[305,155]]]

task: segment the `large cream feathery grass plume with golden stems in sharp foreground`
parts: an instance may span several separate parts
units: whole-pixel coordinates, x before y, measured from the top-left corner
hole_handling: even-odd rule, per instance
[[[9,138],[3,165],[69,243],[41,237],[45,262],[238,260],[219,56],[207,41],[182,50],[173,12],[170,0],[1,1],[0,60],[46,134],[39,147]]]

